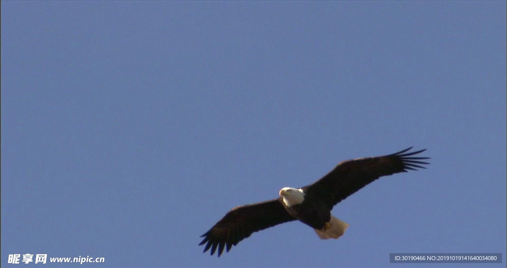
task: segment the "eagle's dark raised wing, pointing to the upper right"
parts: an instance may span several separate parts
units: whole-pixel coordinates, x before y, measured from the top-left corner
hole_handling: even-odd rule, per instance
[[[412,157],[425,149],[406,153],[410,149],[412,147],[389,155],[343,161],[328,175],[304,187],[305,191],[318,195],[332,209],[341,200],[382,176],[425,169],[422,165],[429,163],[421,160],[429,157]]]

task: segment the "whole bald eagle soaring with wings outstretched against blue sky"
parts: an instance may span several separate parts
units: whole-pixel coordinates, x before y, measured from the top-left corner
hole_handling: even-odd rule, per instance
[[[235,207],[201,236],[199,246],[206,244],[203,252],[211,248],[211,255],[218,248],[220,257],[224,248],[229,252],[253,232],[294,220],[312,227],[320,239],[338,239],[349,225],[331,215],[336,204],[382,176],[425,169],[422,164],[429,164],[421,161],[429,157],[413,157],[425,150],[407,153],[410,149],[343,161],[313,184],[284,187],[276,199]]]

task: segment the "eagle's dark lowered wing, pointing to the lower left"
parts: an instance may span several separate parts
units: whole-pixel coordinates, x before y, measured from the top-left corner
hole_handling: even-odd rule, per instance
[[[253,232],[260,231],[280,223],[296,220],[289,215],[280,198],[265,201],[262,203],[239,206],[229,211],[209,231],[199,246],[206,243],[204,251],[211,248],[211,255],[218,247],[218,255],[222,255],[224,247],[227,252],[241,240],[249,237]]]

